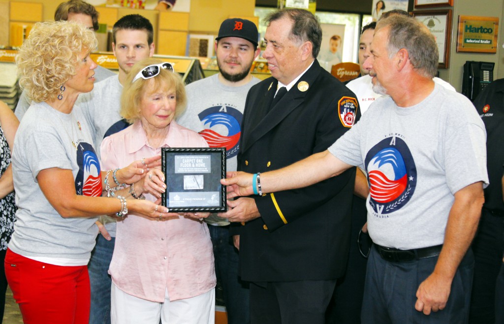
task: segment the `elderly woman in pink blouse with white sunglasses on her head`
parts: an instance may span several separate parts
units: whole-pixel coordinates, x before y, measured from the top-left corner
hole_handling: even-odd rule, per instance
[[[186,103],[182,80],[169,63],[144,59],[133,67],[121,97],[121,115],[133,123],[101,146],[105,169],[160,155],[163,147],[207,147],[174,117]],[[137,199],[158,201],[164,175],[151,169],[130,187]],[[141,216],[141,215],[139,215]],[[126,217],[117,222],[109,273],[112,323],[213,323],[215,271],[202,214],[168,219]]]

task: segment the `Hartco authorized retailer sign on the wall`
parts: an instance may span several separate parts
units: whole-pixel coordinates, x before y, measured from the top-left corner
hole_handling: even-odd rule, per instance
[[[495,53],[498,30],[497,17],[459,16],[457,52]]]

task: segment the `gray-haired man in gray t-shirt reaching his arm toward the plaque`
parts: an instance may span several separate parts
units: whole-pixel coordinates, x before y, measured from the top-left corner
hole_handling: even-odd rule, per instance
[[[437,61],[434,37],[421,23],[397,15],[380,20],[364,66],[373,90],[390,97],[376,100],[327,151],[261,174],[268,193],[310,185],[352,165],[365,169],[375,242],[365,323],[468,320],[474,267],[468,247],[488,184],[486,133],[467,98],[434,84]],[[251,179],[243,174],[222,182],[239,183],[238,192],[247,195]]]

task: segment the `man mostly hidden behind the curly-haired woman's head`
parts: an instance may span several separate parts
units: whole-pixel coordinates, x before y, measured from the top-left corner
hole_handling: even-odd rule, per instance
[[[81,0],[70,0],[59,4],[54,13],[54,21],[65,20],[72,21],[76,23],[83,24],[87,29],[92,31],[98,30],[98,12],[96,9],[88,3]],[[100,82],[108,77],[115,75],[112,71],[109,71],[100,66],[96,67],[95,71],[95,83]],[[23,118],[26,110],[30,107],[31,101],[28,100],[25,91],[21,93],[19,97],[18,104],[16,105],[16,110],[14,113],[19,120]],[[100,148],[96,148],[97,151]]]

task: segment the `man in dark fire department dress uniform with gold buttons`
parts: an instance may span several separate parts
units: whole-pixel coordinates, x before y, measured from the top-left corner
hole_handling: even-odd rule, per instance
[[[359,116],[355,95],[315,59],[317,18],[288,9],[267,22],[263,57],[273,77],[247,95],[238,170],[248,172],[326,150]],[[306,188],[264,196],[259,188],[259,195],[228,202],[220,216],[238,225],[252,323],[324,323],[348,257],[354,180],[352,168]]]

